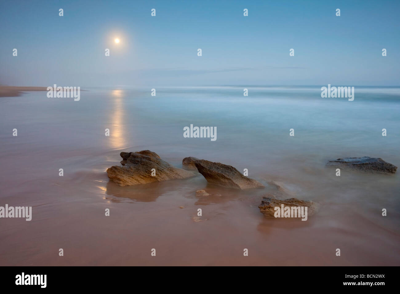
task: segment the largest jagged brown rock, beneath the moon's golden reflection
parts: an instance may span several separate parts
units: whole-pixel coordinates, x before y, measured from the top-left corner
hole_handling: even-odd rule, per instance
[[[147,184],[194,176],[192,172],[171,166],[150,150],[121,152],[120,156],[122,157],[122,166],[112,166],[107,169],[108,177],[120,186]],[[153,168],[156,170],[155,176],[151,175]]]

